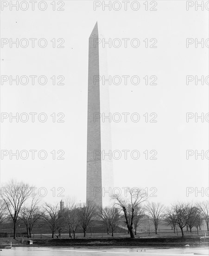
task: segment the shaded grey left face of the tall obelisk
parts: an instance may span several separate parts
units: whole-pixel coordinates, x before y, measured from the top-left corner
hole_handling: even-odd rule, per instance
[[[88,127],[87,127],[87,201],[102,205],[102,194],[96,193],[101,188],[101,155],[95,157],[96,151],[101,151],[101,123],[95,121],[95,113],[100,113],[100,83],[94,83],[94,77],[99,76],[99,45],[97,23],[89,37],[89,80],[88,80]]]

